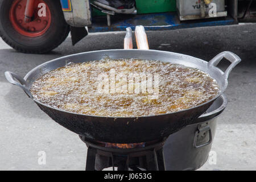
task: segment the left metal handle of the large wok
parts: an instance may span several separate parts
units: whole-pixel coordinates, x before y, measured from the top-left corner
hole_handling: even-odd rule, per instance
[[[27,87],[27,82],[20,76],[16,75],[13,72],[5,72],[6,79],[13,85],[17,85],[24,90],[28,97],[33,98],[30,90]],[[18,81],[16,81],[16,80]]]

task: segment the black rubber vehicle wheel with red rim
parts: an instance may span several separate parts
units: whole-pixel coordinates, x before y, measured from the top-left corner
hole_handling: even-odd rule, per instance
[[[19,52],[46,53],[59,46],[68,36],[59,0],[35,0],[31,22],[24,22],[27,0],[0,0],[0,36]],[[46,5],[40,17],[39,3]]]

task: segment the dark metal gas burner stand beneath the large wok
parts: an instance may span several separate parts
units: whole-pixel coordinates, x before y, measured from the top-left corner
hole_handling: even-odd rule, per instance
[[[118,171],[166,170],[163,155],[165,139],[128,144],[135,146],[134,148],[118,148],[116,144],[92,142],[81,135],[79,137],[88,147],[86,171],[101,171],[108,167],[112,167],[113,171],[114,167]]]

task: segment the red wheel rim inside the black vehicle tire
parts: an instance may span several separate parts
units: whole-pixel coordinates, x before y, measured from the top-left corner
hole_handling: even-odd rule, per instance
[[[46,2],[43,0],[35,0],[34,3],[34,15],[31,22],[26,23],[24,21],[24,13],[26,9],[27,0],[15,0],[10,9],[10,21],[13,24],[14,29],[19,34],[28,37],[42,36],[51,26],[51,12]],[[41,7],[38,7],[39,3],[46,5],[46,16],[39,16],[38,11]]]

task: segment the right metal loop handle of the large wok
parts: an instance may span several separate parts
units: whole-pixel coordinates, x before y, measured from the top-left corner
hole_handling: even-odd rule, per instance
[[[208,67],[216,67],[218,63],[225,57],[225,59],[229,60],[231,64],[229,67],[226,69],[224,72],[224,78],[228,79],[230,72],[238,63],[240,63],[241,59],[238,57],[235,53],[229,52],[229,51],[224,51],[219,53],[217,56],[213,57],[212,60],[209,61]]]

